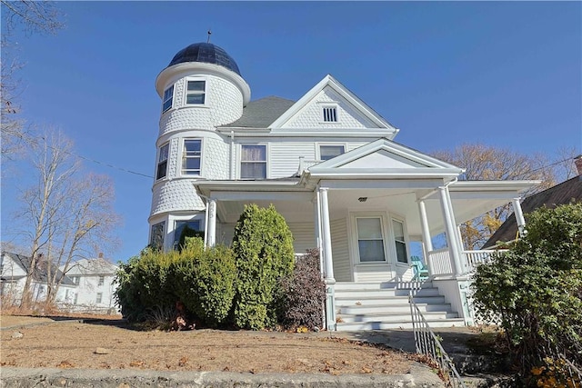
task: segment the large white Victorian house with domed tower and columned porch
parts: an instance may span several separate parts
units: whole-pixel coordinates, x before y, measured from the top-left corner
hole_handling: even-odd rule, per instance
[[[179,51],[156,91],[150,244],[172,249],[186,225],[207,245],[230,244],[245,204],[274,204],[296,253],[322,254],[331,330],[410,323],[411,242],[429,267],[416,293],[429,322],[470,323],[467,274],[487,252],[467,252],[457,224],[508,202],[520,214],[519,193],[537,184],[458,181],[462,166],[396,143],[399,129],[331,75],[296,102],[251,101],[234,59],[212,44]],[[433,249],[443,232],[447,247]]]

